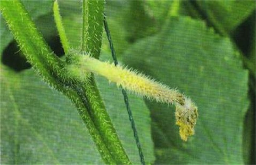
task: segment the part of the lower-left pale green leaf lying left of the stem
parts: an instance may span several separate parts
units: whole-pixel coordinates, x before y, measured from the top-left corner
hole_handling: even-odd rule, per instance
[[[67,97],[32,70],[17,74],[1,69],[2,163],[103,163]]]

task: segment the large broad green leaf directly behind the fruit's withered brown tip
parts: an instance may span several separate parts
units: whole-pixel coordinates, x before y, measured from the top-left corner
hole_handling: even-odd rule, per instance
[[[195,135],[178,135],[173,107],[147,101],[156,164],[243,164],[248,72],[232,43],[188,17],[174,17],[123,56],[126,64],[177,87],[198,106]]]

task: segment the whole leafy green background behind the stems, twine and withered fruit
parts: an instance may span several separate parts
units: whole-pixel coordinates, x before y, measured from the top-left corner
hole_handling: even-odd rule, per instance
[[[63,56],[52,1],[22,1],[52,50]],[[178,135],[172,106],[129,95],[147,163],[255,164],[255,1],[107,1],[117,58],[197,103],[195,136]],[[59,1],[79,48],[80,1]],[[74,106],[30,71],[1,16],[1,161],[103,163]],[[111,61],[106,34],[101,60]],[[121,91],[96,77],[133,163],[139,156]]]

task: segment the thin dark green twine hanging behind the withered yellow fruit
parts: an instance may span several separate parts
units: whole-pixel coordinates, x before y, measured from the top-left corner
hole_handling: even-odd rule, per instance
[[[117,57],[115,55],[115,49],[114,49],[114,46],[113,46],[113,42],[111,40],[110,31],[108,29],[108,24],[107,24],[107,20],[106,20],[106,13],[104,13],[103,21],[104,21],[105,31],[106,31],[107,37],[108,37],[109,47],[111,49],[112,58],[114,60],[115,66],[117,66],[117,64],[118,64]],[[122,89],[122,95],[124,96],[124,102],[126,104],[126,109],[127,109],[128,115],[129,115],[129,119],[130,119],[130,122],[131,122],[131,125],[132,125],[132,130],[134,132],[134,138],[135,138],[135,141],[136,141],[136,145],[137,145],[137,148],[139,150],[139,157],[141,158],[141,164],[145,165],[145,160],[144,160],[144,156],[143,156],[143,152],[142,152],[142,148],[141,148],[141,143],[139,142],[139,136],[137,134],[134,119],[132,117],[132,111],[131,111],[131,108],[130,108],[130,105],[129,105],[129,102],[128,102],[128,97],[127,97],[126,91],[122,88],[122,86],[121,86],[121,89]]]

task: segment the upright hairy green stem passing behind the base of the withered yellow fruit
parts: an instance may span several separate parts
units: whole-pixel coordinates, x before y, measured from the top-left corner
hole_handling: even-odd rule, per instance
[[[103,0],[83,0],[81,51],[89,53],[96,59],[100,56],[103,12]],[[104,142],[108,144],[107,147],[111,151],[115,161],[118,164],[130,164],[131,162],[122,147],[121,141],[117,136],[116,130],[106,111],[106,107],[100,97],[93,74],[89,75],[88,80],[88,85],[85,87],[85,94],[89,96],[89,103],[91,103],[90,106],[92,111],[90,112],[90,115],[96,121],[96,127],[100,131],[102,137],[104,137]],[[101,119],[104,119],[106,122],[101,122]]]

